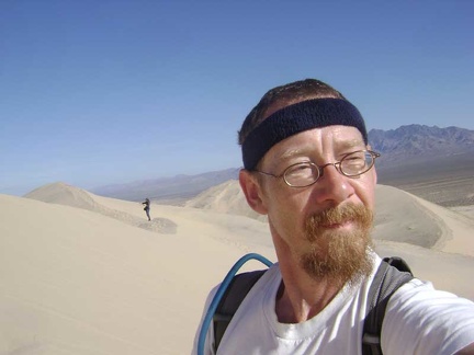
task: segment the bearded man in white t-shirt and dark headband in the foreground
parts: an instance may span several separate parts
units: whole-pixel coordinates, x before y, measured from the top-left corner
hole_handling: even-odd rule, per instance
[[[278,263],[247,295],[217,353],[360,354],[381,259],[370,238],[379,154],[359,111],[324,82],[297,81],[261,99],[239,144],[240,186],[268,216]],[[414,278],[390,299],[381,340],[384,354],[472,354],[474,304]],[[205,354],[212,344],[211,329]]]

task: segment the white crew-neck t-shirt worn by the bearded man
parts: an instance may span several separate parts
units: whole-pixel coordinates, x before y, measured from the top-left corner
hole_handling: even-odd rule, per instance
[[[380,262],[376,256],[373,274]],[[278,321],[274,311],[281,283],[280,268],[274,264],[238,308],[217,354],[361,354],[363,319],[372,279],[373,275],[356,287],[342,288],[312,319],[285,324]],[[216,290],[207,297],[204,312]],[[199,331],[193,354],[198,354]],[[206,355],[214,354],[213,333],[211,324]],[[474,342],[474,302],[436,290],[430,283],[415,278],[392,296],[381,339],[384,355],[453,354]]]

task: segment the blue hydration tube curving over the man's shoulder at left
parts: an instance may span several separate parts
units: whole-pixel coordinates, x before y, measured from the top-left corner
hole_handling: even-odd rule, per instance
[[[234,276],[237,274],[238,270],[249,260],[255,259],[258,260],[260,262],[262,262],[263,264],[266,264],[267,266],[271,266],[273,265],[273,263],[271,261],[269,261],[267,257],[260,255],[260,254],[256,254],[256,253],[250,253],[250,254],[246,254],[242,257],[240,257],[235,264],[234,266],[230,268],[230,271],[227,273],[226,277],[224,278],[224,280],[222,282],[219,288],[217,289],[217,293],[215,294],[210,307],[207,308],[207,312],[204,317],[204,320],[202,322],[201,325],[201,331],[200,331],[200,335],[199,335],[199,341],[198,341],[198,355],[204,355],[204,343],[205,343],[205,339],[206,339],[206,334],[207,334],[207,330],[211,325],[211,321],[214,317],[214,313],[217,309],[218,304],[221,302],[221,299],[224,296],[225,290],[227,289],[227,287],[229,286],[230,282],[233,280]]]

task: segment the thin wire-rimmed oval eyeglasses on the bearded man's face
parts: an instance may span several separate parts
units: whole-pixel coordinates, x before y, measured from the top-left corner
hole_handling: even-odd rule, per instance
[[[273,176],[283,178],[286,185],[291,187],[307,187],[313,185],[324,175],[324,169],[332,165],[336,170],[349,178],[356,178],[366,173],[375,163],[375,159],[381,154],[371,150],[358,150],[342,157],[340,161],[317,165],[311,161],[300,162],[287,167],[282,174],[274,175],[263,171],[255,170],[256,172]]]

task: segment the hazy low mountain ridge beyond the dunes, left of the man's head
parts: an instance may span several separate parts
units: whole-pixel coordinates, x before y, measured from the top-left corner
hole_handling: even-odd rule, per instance
[[[92,188],[98,195],[127,199],[143,201],[146,197],[154,202],[181,205],[212,186],[228,180],[238,179],[239,168],[211,171],[196,175],[176,175],[172,178],[158,178],[142,180],[125,184],[106,185]]]

